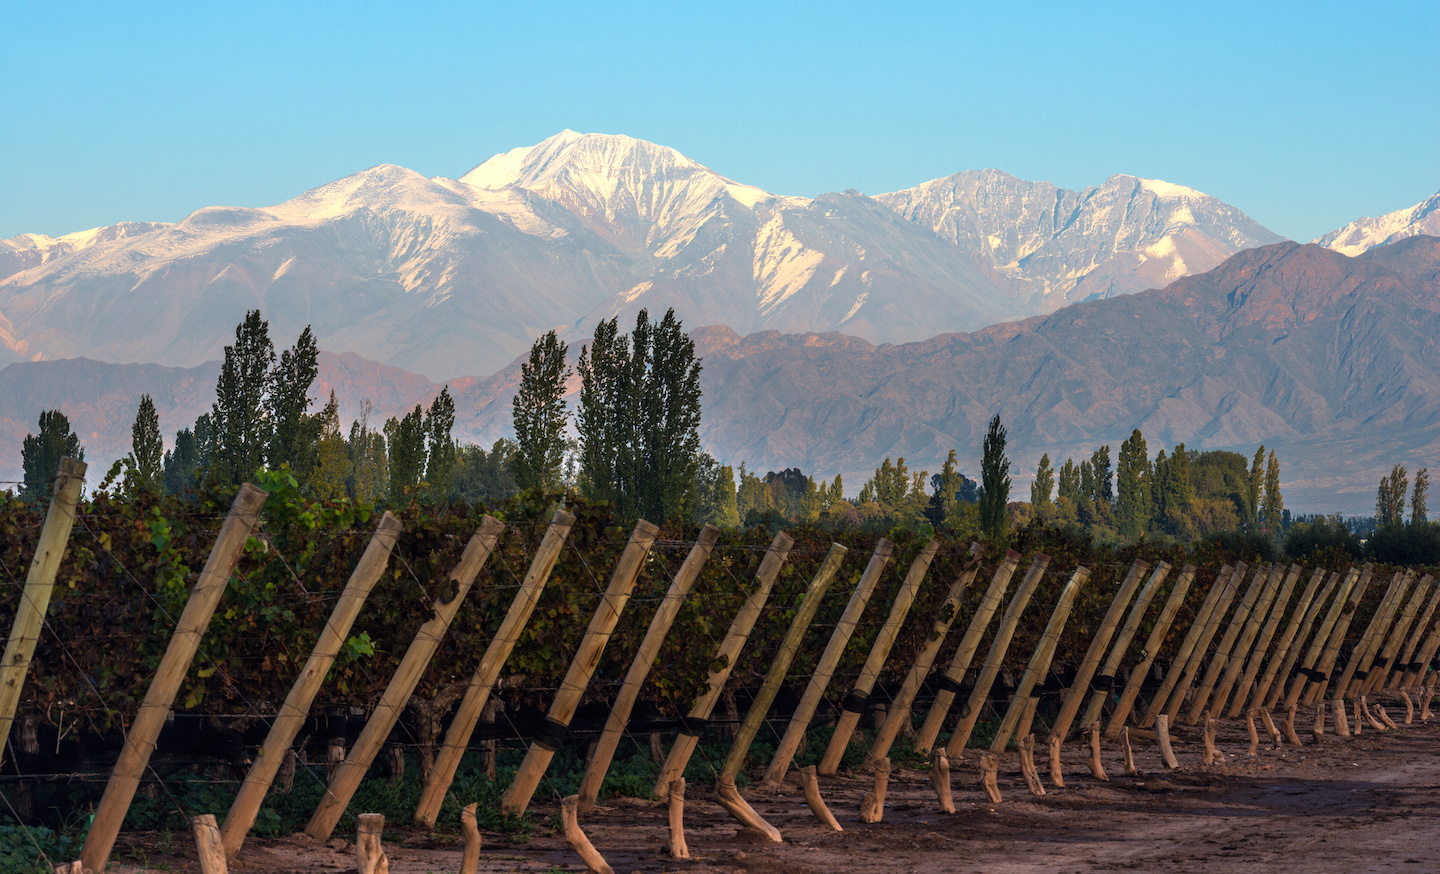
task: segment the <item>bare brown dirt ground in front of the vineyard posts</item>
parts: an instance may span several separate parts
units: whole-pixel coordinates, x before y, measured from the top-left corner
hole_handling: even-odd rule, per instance
[[[1404,704],[1387,703],[1397,721]],[[989,803],[979,785],[976,756],[952,762],[958,812],[942,814],[926,770],[896,767],[883,822],[860,821],[867,775],[822,778],[825,799],[844,826],[829,832],[805,806],[798,776],[779,792],[750,790],[750,803],[785,835],[783,844],[737,832],[737,822],[691,786],[685,803],[685,839],[691,861],[665,855],[667,811],[658,802],[619,799],[582,818],[582,826],[618,874],[631,871],[832,874],[840,871],[1284,871],[1308,874],[1352,871],[1436,871],[1440,786],[1440,721],[1374,731],[1359,737],[1335,734],[1326,718],[1322,743],[1310,739],[1313,710],[1300,708],[1296,730],[1305,746],[1273,749],[1261,743],[1248,757],[1244,720],[1221,721],[1218,747],[1224,763],[1201,762],[1200,727],[1174,733],[1179,770],[1166,770],[1153,740],[1135,742],[1139,776],[1125,776],[1119,742],[1102,750],[1109,782],[1084,765],[1086,746],[1064,749],[1066,786],[1047,785],[1032,796],[1014,752],[1001,760],[1002,803]],[[1354,726],[1352,726],[1354,729]],[[1261,737],[1264,729],[1260,727]],[[1037,743],[1037,747],[1040,744]],[[1037,757],[1044,753],[1037,749]],[[533,805],[549,824],[554,801]],[[390,871],[422,874],[458,871],[458,838],[438,838],[406,826],[386,829]],[[144,850],[145,835],[122,835],[117,857]],[[354,871],[354,847],[310,842],[304,835],[275,841],[251,839],[230,871],[289,874]],[[189,851],[189,852],[186,852]],[[197,871],[193,848],[151,864],[170,871]],[[112,867],[112,870],[117,870]],[[156,868],[120,868],[150,871]],[[480,871],[583,871],[585,865],[546,825],[517,839],[484,835]]]

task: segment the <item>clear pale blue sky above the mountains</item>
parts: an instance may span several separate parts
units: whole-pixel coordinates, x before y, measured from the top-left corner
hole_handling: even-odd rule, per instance
[[[1440,190],[1440,3],[12,4],[0,238],[456,177],[560,131],[783,194],[998,167],[1310,239]]]

